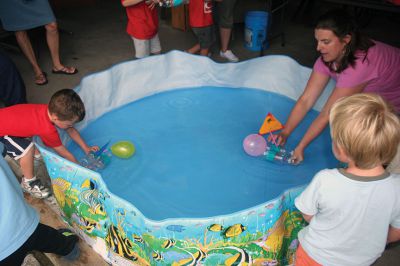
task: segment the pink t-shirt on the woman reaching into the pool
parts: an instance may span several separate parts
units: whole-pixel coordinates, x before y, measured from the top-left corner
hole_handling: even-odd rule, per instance
[[[341,73],[331,72],[319,57],[314,71],[333,78],[337,88],[350,88],[367,82],[363,92],[379,94],[400,113],[400,49],[374,42],[365,60],[364,53],[357,54],[354,67],[349,66]]]

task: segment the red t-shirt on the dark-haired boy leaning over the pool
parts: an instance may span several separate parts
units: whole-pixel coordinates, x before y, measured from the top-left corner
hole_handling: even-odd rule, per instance
[[[0,136],[39,136],[49,147],[62,145],[56,126],[50,121],[47,104],[17,104],[0,109]]]

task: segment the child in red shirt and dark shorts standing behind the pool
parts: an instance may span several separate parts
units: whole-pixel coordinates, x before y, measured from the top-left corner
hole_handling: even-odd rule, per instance
[[[198,40],[188,53],[208,56],[210,47],[215,42],[212,0],[190,0],[189,24]]]

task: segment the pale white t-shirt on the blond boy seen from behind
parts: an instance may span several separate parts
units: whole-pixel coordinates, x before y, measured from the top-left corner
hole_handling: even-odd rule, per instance
[[[359,177],[325,169],[295,200],[314,215],[298,235],[322,265],[371,265],[385,249],[389,224],[400,228],[400,175]]]

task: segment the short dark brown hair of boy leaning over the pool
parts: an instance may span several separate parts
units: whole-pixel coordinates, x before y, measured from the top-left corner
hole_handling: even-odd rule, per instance
[[[85,105],[79,95],[70,89],[62,89],[51,96],[49,112],[55,114],[61,121],[78,119],[82,121],[85,117]]]

